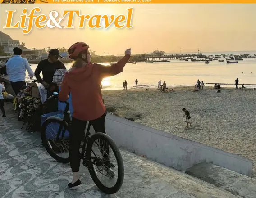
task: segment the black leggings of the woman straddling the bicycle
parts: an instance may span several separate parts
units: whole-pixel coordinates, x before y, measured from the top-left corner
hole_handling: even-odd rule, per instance
[[[105,112],[98,119],[91,121],[91,125],[93,126],[93,129],[95,130],[96,133],[97,132],[105,133],[106,114],[107,112]],[[69,144],[70,167],[72,169],[72,172],[79,171],[80,161],[81,161],[79,149],[80,149],[81,141],[85,137],[86,123],[87,121],[82,121],[76,118],[72,118],[71,131],[70,131],[70,144]],[[107,153],[107,155],[109,155],[108,149],[106,149],[105,152]]]

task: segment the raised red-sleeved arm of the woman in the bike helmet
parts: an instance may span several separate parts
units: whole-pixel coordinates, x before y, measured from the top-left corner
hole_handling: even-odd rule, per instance
[[[98,64],[100,75],[103,78],[105,78],[105,77],[114,76],[116,74],[123,72],[123,67],[129,61],[130,58],[131,58],[131,49],[127,49],[125,51],[125,56],[121,60],[119,60],[117,63],[112,64],[110,66],[104,66],[104,65]]]

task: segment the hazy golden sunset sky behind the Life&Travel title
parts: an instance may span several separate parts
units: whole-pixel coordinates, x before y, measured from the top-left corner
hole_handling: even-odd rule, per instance
[[[6,9],[16,9],[14,21],[22,9],[41,8],[41,14],[65,9],[81,10],[82,14],[127,14],[133,7],[133,28],[107,30],[78,28],[34,28],[28,35],[21,29],[3,29]],[[123,54],[159,49],[179,53],[256,50],[256,4],[1,4],[1,31],[12,39],[26,43],[27,48],[65,47],[84,41],[97,54]]]

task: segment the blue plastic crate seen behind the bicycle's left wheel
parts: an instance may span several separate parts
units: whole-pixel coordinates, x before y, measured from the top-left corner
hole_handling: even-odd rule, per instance
[[[51,112],[51,113],[44,114],[44,115],[41,116],[41,125],[49,117],[59,117],[59,118],[63,119],[63,116],[64,116],[63,112],[61,112],[61,111]],[[54,139],[54,138],[56,138],[58,130],[59,130],[59,123],[57,123],[57,122],[52,123],[51,125],[46,126],[46,138],[47,139]],[[61,131],[60,137],[62,137],[62,133],[63,133],[63,131]],[[68,138],[69,138],[69,131],[65,130],[65,132],[64,132],[64,139],[68,139]]]

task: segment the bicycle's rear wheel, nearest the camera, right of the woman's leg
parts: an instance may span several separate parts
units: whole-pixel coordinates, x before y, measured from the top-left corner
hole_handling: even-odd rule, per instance
[[[113,162],[114,157],[116,161]],[[124,177],[123,159],[110,136],[104,133],[93,134],[87,143],[86,159],[91,178],[102,192],[114,194],[119,191]],[[97,173],[101,174],[101,178],[108,179],[106,183],[100,180]]]

